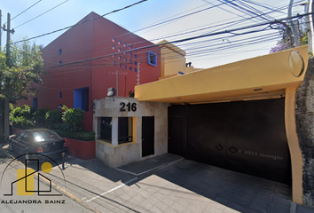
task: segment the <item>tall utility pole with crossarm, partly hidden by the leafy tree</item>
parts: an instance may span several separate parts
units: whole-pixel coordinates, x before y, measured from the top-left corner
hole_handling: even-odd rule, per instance
[[[11,30],[11,15],[8,13],[7,16],[7,28],[4,31],[6,31],[6,62],[7,66],[11,67],[11,61],[10,61],[10,34],[14,33],[14,29]],[[4,85],[7,83],[7,81],[4,82]],[[6,89],[7,90],[7,89]],[[6,96],[8,94],[5,94]],[[10,134],[10,123],[9,123],[9,99],[6,97],[4,100],[4,139],[5,141],[9,140],[9,134]]]

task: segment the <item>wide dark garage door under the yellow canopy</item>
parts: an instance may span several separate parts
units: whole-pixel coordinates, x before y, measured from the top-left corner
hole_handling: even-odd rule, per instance
[[[284,109],[285,99],[170,106],[169,153],[291,184]]]

